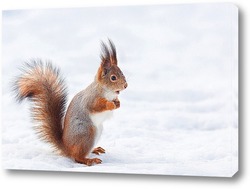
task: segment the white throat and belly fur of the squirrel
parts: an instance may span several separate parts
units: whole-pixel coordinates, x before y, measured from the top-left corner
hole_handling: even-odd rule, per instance
[[[117,98],[117,94],[112,91],[107,91],[106,93],[104,93],[104,98],[106,98],[109,101],[112,101]],[[95,144],[97,143],[97,141],[99,140],[101,136],[102,129],[103,129],[103,125],[102,125],[103,122],[107,119],[110,119],[112,115],[113,115],[113,111],[111,110],[103,111],[100,113],[94,113],[90,115],[90,118],[94,126],[96,127]]]

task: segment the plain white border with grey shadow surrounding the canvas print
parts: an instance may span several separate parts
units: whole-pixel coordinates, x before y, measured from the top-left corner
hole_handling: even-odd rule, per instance
[[[33,8],[65,8],[86,6],[113,6],[113,5],[143,5],[143,4],[177,4],[225,1],[189,1],[189,0],[2,0],[1,10],[6,9],[33,9]],[[1,170],[1,185],[5,188],[248,188],[249,179],[249,146],[250,133],[249,108],[247,97],[250,96],[250,70],[249,64],[249,14],[250,3],[246,0],[231,1],[239,7],[240,20],[240,172],[233,178],[199,178],[199,177],[173,177],[173,176],[138,176],[116,174],[86,174],[86,173],[60,173],[60,172],[30,172]],[[2,22],[2,16],[1,16]],[[2,23],[1,23],[2,26]],[[2,40],[2,35],[1,35]],[[2,54],[1,54],[2,56]],[[2,110],[1,110],[2,111]],[[2,166],[1,166],[2,167]]]

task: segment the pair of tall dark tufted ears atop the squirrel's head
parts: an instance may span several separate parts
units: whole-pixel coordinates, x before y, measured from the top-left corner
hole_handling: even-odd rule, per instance
[[[110,39],[108,41],[110,48],[104,42],[101,42],[101,65],[106,69],[109,69],[111,65],[117,65],[115,45]]]

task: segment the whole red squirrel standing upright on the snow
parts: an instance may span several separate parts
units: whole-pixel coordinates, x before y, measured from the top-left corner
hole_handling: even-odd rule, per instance
[[[102,42],[101,64],[94,81],[77,93],[66,110],[66,86],[58,68],[50,62],[32,60],[24,66],[14,87],[18,101],[32,103],[32,117],[38,122],[41,139],[52,144],[61,155],[91,166],[102,162],[89,154],[105,153],[94,148],[103,122],[120,107],[118,95],[128,84],[117,65],[115,45]]]

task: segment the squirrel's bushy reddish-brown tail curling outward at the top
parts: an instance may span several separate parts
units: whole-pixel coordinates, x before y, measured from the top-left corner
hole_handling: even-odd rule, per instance
[[[59,69],[50,62],[32,60],[24,65],[14,90],[18,101],[28,98],[33,102],[31,114],[38,123],[39,136],[63,153],[62,125],[67,92]]]

